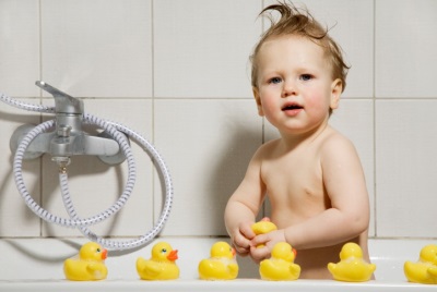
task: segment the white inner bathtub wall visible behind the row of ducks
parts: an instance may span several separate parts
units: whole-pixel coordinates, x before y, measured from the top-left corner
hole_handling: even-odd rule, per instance
[[[150,251],[156,241],[167,241],[174,248],[178,250],[180,279],[167,281],[172,285],[180,281],[198,280],[197,265],[209,256],[210,247],[216,241],[228,241],[220,238],[160,238],[151,244],[129,252],[110,252],[105,264],[108,268],[108,277],[105,281],[113,283],[141,281],[135,271],[135,260],[139,256],[149,258]],[[2,239],[0,240],[1,265],[0,265],[0,291],[8,287],[17,288],[17,283],[29,284],[28,291],[35,283],[68,282],[62,272],[63,260],[74,256],[79,247],[85,243],[84,239]],[[369,252],[371,261],[377,265],[376,281],[378,283],[395,283],[394,285],[409,285],[403,275],[403,263],[405,260],[417,260],[420,250],[426,244],[434,243],[426,240],[380,240],[370,239]],[[238,280],[246,281],[245,287],[250,287],[252,280],[259,280],[258,267],[249,258],[238,258],[240,272]],[[305,282],[299,280],[300,283]],[[101,281],[102,282],[102,281]],[[255,281],[256,287],[264,285],[267,281]],[[336,281],[326,281],[330,285]],[[335,283],[336,282],[336,283]],[[11,284],[14,284],[12,285]],[[307,282],[308,283],[308,282]],[[261,285],[260,285],[261,284]],[[157,285],[163,288],[162,285]],[[422,285],[426,289],[437,288]],[[26,291],[25,287],[20,287]],[[78,288],[78,287],[76,287]],[[125,287],[126,288],[126,287]],[[412,287],[410,287],[412,288]],[[64,288],[63,288],[64,289]],[[290,289],[290,288],[288,288]],[[66,290],[66,289],[64,289]],[[115,290],[114,290],[115,291]],[[158,290],[156,290],[158,291]]]

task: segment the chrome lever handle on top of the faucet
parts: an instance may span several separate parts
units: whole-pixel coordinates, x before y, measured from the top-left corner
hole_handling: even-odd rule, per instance
[[[72,97],[44,81],[37,81],[35,85],[54,96],[56,113],[83,114],[84,107],[81,99]]]

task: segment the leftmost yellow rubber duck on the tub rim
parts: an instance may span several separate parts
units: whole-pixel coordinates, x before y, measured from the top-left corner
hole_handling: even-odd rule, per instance
[[[106,279],[108,269],[105,266],[107,251],[98,243],[88,242],[79,251],[79,258],[63,261],[63,273],[72,281],[95,281]]]

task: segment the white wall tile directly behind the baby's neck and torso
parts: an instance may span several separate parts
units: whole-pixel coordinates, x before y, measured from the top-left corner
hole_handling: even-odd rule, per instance
[[[370,200],[369,235],[375,234],[375,187],[374,187],[374,102],[373,100],[344,99],[330,118],[330,124],[355,145],[366,177]],[[280,137],[275,127],[265,122],[265,139]],[[270,214],[270,205],[267,205]]]

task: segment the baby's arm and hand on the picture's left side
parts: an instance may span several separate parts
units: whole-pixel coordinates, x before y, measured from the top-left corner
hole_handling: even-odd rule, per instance
[[[236,252],[245,256],[250,251],[250,240],[255,238],[252,223],[259,211],[265,187],[260,178],[261,151],[250,160],[246,175],[231,196],[225,209],[226,230]]]

